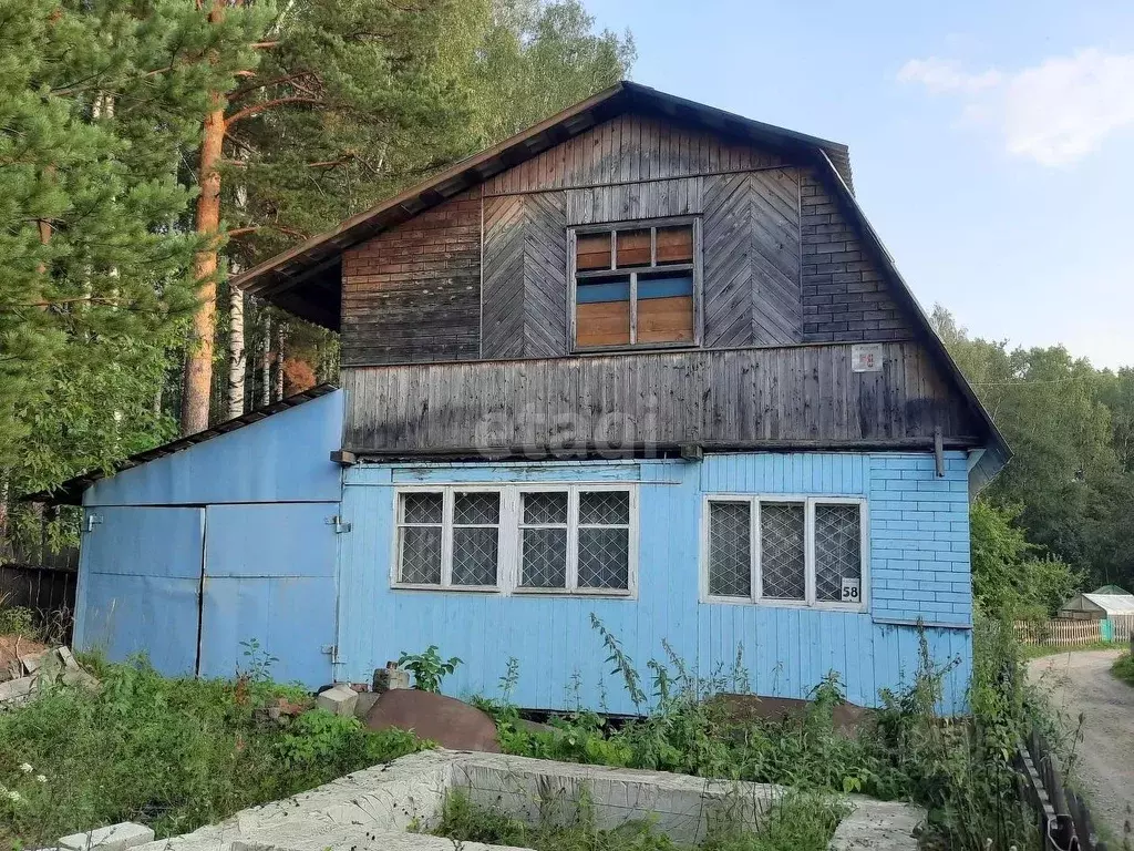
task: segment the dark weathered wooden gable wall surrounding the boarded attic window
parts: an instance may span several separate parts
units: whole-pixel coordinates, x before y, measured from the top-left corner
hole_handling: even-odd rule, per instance
[[[567,229],[697,216],[709,348],[914,337],[810,163],[624,115],[344,254],[345,364],[570,353]]]

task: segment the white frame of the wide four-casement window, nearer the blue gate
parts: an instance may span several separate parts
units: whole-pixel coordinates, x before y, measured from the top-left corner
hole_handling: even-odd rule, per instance
[[[473,593],[499,593],[552,596],[552,597],[610,597],[615,599],[637,599],[638,568],[638,486],[633,482],[557,482],[557,483],[476,483],[464,485],[409,485],[397,486],[393,489],[392,517],[393,533],[390,547],[390,588],[409,591],[458,591]],[[613,490],[629,495],[629,553],[627,556],[627,588],[578,588],[578,504],[582,491]],[[500,494],[500,525],[497,545],[497,584],[496,585],[455,585],[452,584],[452,519],[456,494],[465,492]],[[566,492],[567,494],[567,583],[565,588],[522,588],[521,556],[523,534],[522,494],[528,492]],[[403,582],[401,571],[401,497],[406,494],[441,494],[443,513],[441,524],[441,583]],[[582,524],[589,528],[590,524]],[[621,528],[604,525],[602,528]]]

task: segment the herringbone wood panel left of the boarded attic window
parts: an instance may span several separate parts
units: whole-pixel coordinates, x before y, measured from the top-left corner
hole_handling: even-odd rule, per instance
[[[567,352],[564,193],[485,199],[483,357]]]

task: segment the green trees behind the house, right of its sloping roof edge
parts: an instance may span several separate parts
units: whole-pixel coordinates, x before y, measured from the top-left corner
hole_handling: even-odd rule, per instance
[[[972,338],[933,325],[1015,453],[989,487],[1026,538],[1097,587],[1134,580],[1134,369],[1097,370],[1063,346]],[[975,531],[975,530],[974,530]]]

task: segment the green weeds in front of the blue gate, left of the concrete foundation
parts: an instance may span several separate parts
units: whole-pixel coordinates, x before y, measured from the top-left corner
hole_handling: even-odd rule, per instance
[[[116,821],[170,836],[422,747],[323,710],[261,719],[255,710],[278,697],[307,700],[266,677],[168,680],[142,662],[92,669],[96,693],[59,686],[0,715],[0,843],[49,846]]]

